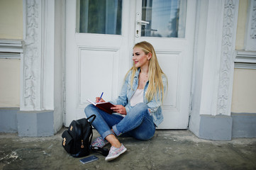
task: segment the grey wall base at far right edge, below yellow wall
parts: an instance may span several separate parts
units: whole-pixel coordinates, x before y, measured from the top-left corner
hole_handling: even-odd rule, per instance
[[[231,113],[232,137],[256,137],[256,113]]]

